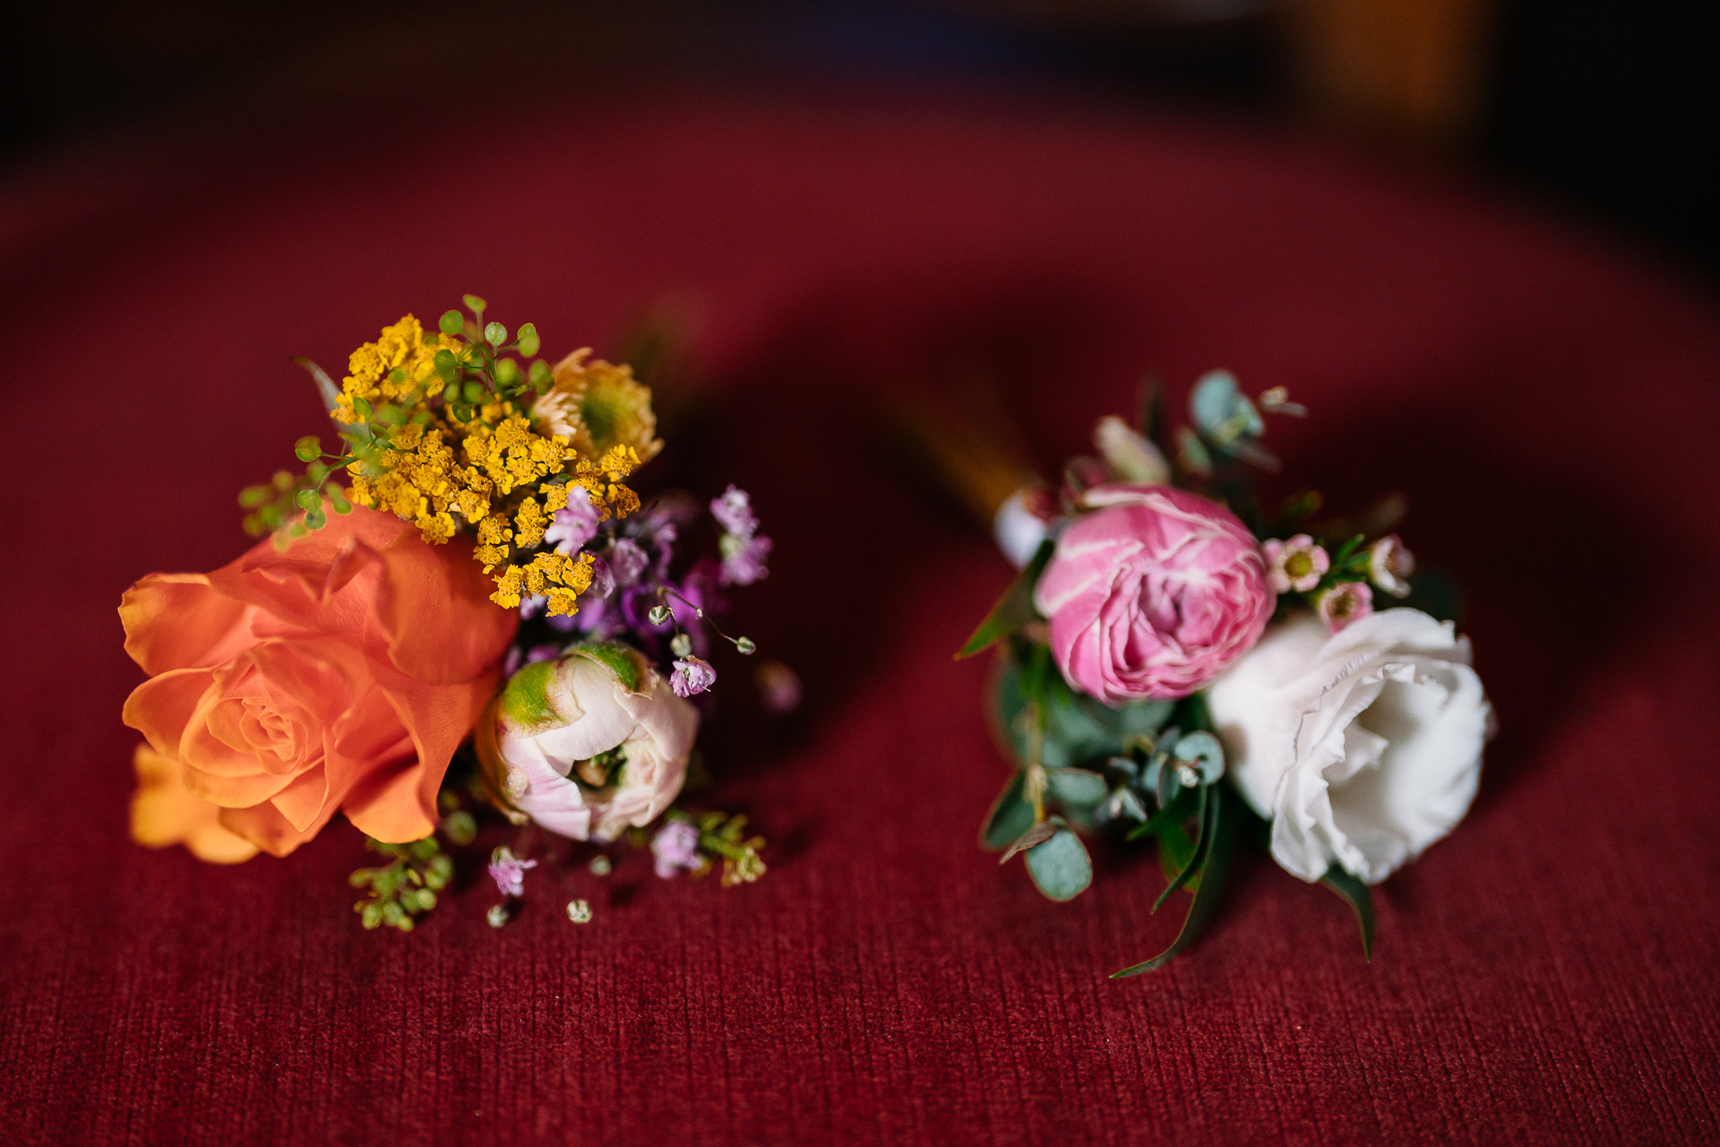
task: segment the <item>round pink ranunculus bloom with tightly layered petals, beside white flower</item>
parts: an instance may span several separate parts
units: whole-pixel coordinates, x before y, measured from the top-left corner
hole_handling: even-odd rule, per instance
[[[1194,693],[1273,614],[1254,535],[1223,506],[1170,487],[1087,492],[1034,590],[1063,678],[1106,705]]]

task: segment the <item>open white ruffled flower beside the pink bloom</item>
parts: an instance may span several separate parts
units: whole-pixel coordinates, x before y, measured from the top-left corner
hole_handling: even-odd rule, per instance
[[[1230,776],[1273,822],[1273,860],[1378,884],[1452,831],[1493,710],[1452,623],[1388,609],[1333,635],[1299,612],[1207,690]]]

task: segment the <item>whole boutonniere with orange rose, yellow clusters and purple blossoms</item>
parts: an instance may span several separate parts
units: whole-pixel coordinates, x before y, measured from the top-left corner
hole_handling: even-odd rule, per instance
[[[745,492],[709,502],[717,555],[681,561],[703,516],[642,502],[660,449],[650,389],[588,351],[550,366],[531,323],[485,303],[427,332],[411,315],[315,378],[339,449],[301,439],[303,473],[241,494],[253,535],[206,574],[148,574],[120,600],[148,679],[124,721],[132,836],[217,863],[286,856],[341,812],[385,863],[353,874],[366,929],[411,930],[494,808],[518,829],[488,875],[504,925],[540,865],[578,896],[573,843],[648,846],[657,875],[745,884],[765,872],[746,819],[678,805],[717,671],[724,592],[767,574]],[[528,365],[521,365],[528,359]],[[341,485],[341,481],[346,485]],[[765,707],[798,702],[777,662]],[[542,839],[542,846],[535,844]],[[559,898],[557,898],[559,899]]]

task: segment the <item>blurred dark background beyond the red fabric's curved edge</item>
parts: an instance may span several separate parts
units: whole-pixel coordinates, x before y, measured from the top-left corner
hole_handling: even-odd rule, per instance
[[[542,88],[1053,91],[1479,172],[1720,273],[1713,0],[84,0],[9,19],[0,174],[236,115]],[[473,89],[473,69],[494,81]]]

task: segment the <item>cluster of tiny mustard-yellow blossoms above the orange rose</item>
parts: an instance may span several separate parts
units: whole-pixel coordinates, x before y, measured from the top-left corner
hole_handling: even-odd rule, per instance
[[[387,449],[368,473],[349,471],[353,502],[411,519],[432,545],[454,537],[459,514],[476,533],[473,557],[495,581],[492,602],[513,609],[533,593],[549,598],[550,616],[578,612],[574,600],[592,585],[592,555],[528,550],[544,543],[571,485],[587,490],[599,521],[636,511],[640,499],[624,480],[640,464],[638,451],[612,445],[599,461],[581,457],[568,435],[533,432],[513,402],[478,408],[468,423],[444,420],[425,406],[442,389],[433,358],[444,346],[459,353],[447,335],[425,339],[408,315],[353,353],[337,420],[359,421],[356,399],[404,399],[404,425]]]

